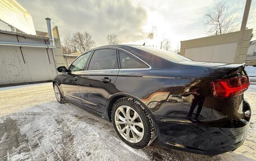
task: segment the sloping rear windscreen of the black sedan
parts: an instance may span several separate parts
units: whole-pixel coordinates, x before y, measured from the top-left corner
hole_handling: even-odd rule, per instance
[[[145,52],[148,53],[152,53],[158,57],[167,59],[168,61],[172,61],[172,62],[182,62],[182,61],[192,61],[189,58],[180,56],[179,54],[167,51],[167,50],[161,50],[161,49],[154,49],[154,48],[149,48],[149,47],[135,47],[138,48],[140,50],[144,50]]]

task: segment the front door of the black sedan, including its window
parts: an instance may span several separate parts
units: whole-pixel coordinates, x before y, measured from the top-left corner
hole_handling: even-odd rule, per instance
[[[61,84],[65,98],[77,104],[81,104],[81,95],[78,87],[80,76],[84,71],[90,53],[92,52],[85,53],[72,62],[68,68],[69,72],[65,73],[65,78]]]

